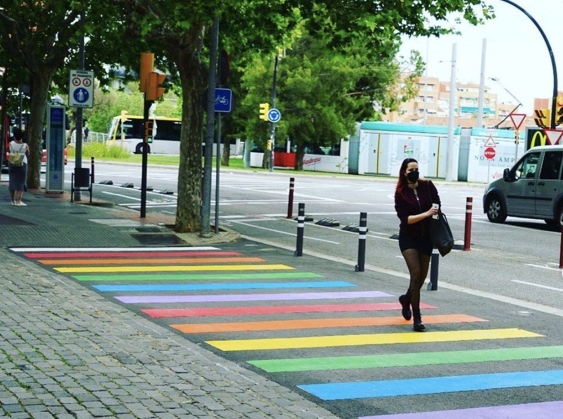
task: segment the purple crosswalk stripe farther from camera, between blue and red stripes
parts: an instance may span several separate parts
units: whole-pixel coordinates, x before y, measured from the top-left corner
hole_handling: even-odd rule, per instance
[[[393,297],[381,291],[350,292],[302,292],[285,294],[219,294],[219,295],[132,295],[117,296],[126,304],[151,302],[210,302],[210,301],[275,301],[275,300],[323,300],[341,298]]]

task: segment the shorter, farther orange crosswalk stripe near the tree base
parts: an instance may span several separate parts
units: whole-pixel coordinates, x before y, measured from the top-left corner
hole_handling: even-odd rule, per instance
[[[261,257],[174,257],[155,259],[40,259],[43,265],[138,265],[138,264],[205,264],[221,262],[265,262]]]

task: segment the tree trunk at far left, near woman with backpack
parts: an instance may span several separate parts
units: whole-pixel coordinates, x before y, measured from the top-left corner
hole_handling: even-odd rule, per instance
[[[30,189],[41,188],[43,118],[47,107],[47,95],[52,75],[53,70],[48,68],[42,68],[41,71],[31,73],[31,109],[29,126],[26,129],[26,141],[29,145],[27,186]]]

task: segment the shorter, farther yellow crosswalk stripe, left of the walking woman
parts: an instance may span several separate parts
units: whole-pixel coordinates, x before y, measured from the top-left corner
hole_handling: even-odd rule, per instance
[[[287,265],[207,265],[207,266],[88,266],[72,268],[53,268],[58,272],[162,272],[162,271],[208,271],[208,270],[276,270],[295,269]]]

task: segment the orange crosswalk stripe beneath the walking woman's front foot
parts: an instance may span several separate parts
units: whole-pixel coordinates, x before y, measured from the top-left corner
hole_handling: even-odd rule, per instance
[[[489,320],[466,314],[430,315],[423,318],[427,324],[488,322]],[[266,330],[320,329],[329,327],[358,326],[402,326],[410,325],[412,320],[401,316],[390,317],[355,317],[334,319],[298,319],[271,320],[267,322],[235,322],[235,323],[193,323],[171,324],[170,326],[184,333],[211,332],[258,332]]]

